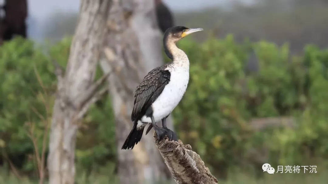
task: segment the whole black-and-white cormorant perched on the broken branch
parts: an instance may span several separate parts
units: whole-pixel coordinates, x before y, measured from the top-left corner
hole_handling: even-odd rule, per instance
[[[125,140],[122,149],[133,149],[142,137],[147,124],[152,127],[161,140],[165,135],[177,140],[175,133],[166,127],[166,118],[182,99],[189,82],[189,59],[184,51],[176,46],[183,37],[202,31],[202,28],[190,29],[183,26],[168,28],[164,33],[164,49],[172,62],[150,71],[135,90],[131,120],[133,128]],[[162,121],[162,127],[156,122]]]

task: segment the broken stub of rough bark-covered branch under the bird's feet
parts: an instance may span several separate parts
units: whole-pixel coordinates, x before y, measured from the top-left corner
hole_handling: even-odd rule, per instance
[[[174,180],[178,184],[214,184],[217,179],[204,165],[200,156],[192,151],[189,144],[184,145],[181,140],[169,141],[167,137],[158,142],[154,132],[155,144],[164,162],[170,169]]]

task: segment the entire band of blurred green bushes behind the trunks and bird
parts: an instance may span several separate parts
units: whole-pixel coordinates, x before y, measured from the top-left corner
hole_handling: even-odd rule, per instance
[[[35,136],[41,137],[37,139],[41,150],[47,124],[41,117],[51,120],[56,90],[51,60],[65,66],[70,41],[41,49],[15,39],[0,47],[0,147],[3,159],[23,155],[20,170],[35,171],[34,159],[28,156],[33,154],[29,126],[34,124]],[[232,35],[222,40],[210,37],[202,44],[184,39],[179,47],[191,64],[187,92],[173,112],[176,132],[213,173],[224,177],[228,170],[258,167],[264,161],[314,165],[326,158],[328,50],[309,45],[302,56],[291,56],[288,44],[238,44]],[[255,73],[245,69],[252,52],[259,64]],[[98,70],[97,77],[101,75]],[[255,131],[250,123],[269,117],[293,117],[296,125]],[[106,97],[92,105],[78,132],[78,173],[115,172],[114,129]],[[250,154],[254,149],[264,149],[267,159],[254,161],[257,156]]]

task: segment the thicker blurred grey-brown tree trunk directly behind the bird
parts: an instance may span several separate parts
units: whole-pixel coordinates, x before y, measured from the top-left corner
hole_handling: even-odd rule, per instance
[[[113,0],[112,6],[105,57],[100,64],[105,73],[113,72],[108,82],[116,120],[120,183],[167,180],[172,175],[154,144],[152,133],[143,135],[133,150],[121,150],[133,125],[133,92],[151,69],[163,64],[154,0]],[[168,125],[172,128],[172,118],[168,119]]]

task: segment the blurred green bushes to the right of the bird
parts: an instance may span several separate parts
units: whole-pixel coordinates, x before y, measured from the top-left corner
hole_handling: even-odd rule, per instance
[[[304,57],[294,57],[286,44],[253,43],[260,70],[246,75],[250,45],[236,44],[231,35],[201,45],[185,41],[180,48],[190,58],[191,76],[174,110],[176,128],[212,168],[246,160],[259,146],[276,165],[304,165],[305,158],[327,155],[328,50],[308,46]],[[250,134],[252,118],[281,116],[295,117],[297,128]]]

